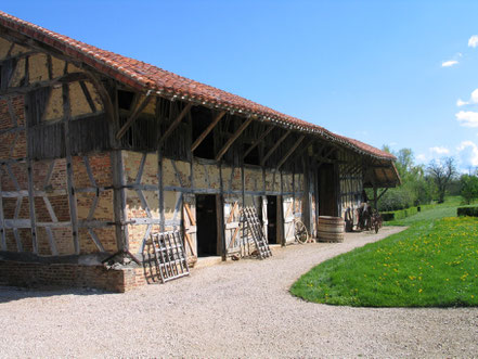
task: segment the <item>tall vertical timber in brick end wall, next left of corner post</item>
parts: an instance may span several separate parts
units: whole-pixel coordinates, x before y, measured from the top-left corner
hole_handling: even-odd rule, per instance
[[[63,133],[65,137],[65,153],[66,153],[66,180],[68,188],[68,202],[69,202],[69,217],[72,220],[73,243],[75,246],[75,254],[80,253],[79,235],[78,235],[78,215],[75,193],[75,182],[73,179],[73,161],[72,161],[72,146],[69,143],[69,119],[72,117],[72,111],[69,105],[69,87],[68,84],[63,84]]]

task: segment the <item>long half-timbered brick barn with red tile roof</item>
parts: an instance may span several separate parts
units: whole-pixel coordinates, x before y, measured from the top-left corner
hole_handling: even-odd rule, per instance
[[[150,234],[181,229],[190,262],[269,243],[395,187],[395,157],[156,66],[0,12],[0,283],[126,291]]]

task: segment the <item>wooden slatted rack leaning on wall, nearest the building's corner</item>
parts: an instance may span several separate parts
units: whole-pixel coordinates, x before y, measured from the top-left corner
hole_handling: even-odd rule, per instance
[[[163,283],[190,275],[188,257],[180,231],[152,233],[153,260],[156,275]]]

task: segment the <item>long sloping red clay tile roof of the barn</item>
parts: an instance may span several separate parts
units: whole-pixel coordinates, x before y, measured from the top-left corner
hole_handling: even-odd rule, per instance
[[[176,75],[154,65],[102,50],[88,43],[74,40],[25,22],[0,11],[0,25],[47,43],[66,55],[83,62],[101,73],[140,91],[157,91],[165,95],[177,95],[188,101],[205,102],[221,108],[256,115],[264,120],[280,123],[294,129],[315,133],[330,141],[340,143],[361,154],[382,159],[395,161],[396,157],[366,143],[333,133],[296,117],[282,114],[236,94],[222,91],[212,86]]]

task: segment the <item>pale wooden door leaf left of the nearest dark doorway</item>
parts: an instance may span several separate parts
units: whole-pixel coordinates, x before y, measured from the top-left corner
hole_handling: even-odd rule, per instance
[[[184,231],[184,247],[188,260],[197,260],[197,227],[196,227],[196,198],[193,194],[183,194],[182,225]]]

